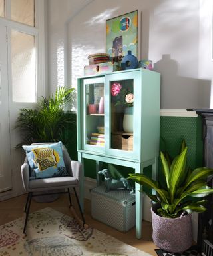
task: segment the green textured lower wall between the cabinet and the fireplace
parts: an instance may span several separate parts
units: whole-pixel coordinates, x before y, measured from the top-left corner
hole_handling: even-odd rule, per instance
[[[182,139],[188,147],[187,159],[191,169],[202,166],[202,121],[200,117],[160,117],[160,150],[171,157],[180,152]]]

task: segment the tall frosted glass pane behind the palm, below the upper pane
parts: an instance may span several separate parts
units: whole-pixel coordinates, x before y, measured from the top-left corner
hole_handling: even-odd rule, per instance
[[[35,37],[11,31],[11,71],[14,102],[36,102]]]

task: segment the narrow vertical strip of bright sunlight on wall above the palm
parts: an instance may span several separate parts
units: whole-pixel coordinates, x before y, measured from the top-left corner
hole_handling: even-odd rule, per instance
[[[57,86],[65,85],[65,48],[64,43],[61,42],[57,47]]]

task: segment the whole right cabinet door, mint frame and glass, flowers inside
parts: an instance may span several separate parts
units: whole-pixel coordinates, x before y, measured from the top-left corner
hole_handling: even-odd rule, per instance
[[[109,124],[107,149],[112,155],[132,158],[139,153],[140,143],[136,143],[136,139],[140,139],[141,129],[141,83],[138,78],[140,75],[137,74],[126,72],[106,76],[106,94],[109,99],[106,107],[109,110],[106,114],[106,123]],[[136,111],[140,115],[136,115]]]

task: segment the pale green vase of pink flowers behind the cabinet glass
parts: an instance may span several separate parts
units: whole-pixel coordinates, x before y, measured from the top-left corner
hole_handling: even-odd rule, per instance
[[[133,133],[134,94],[132,89],[120,83],[113,83],[111,85],[111,95],[112,102],[115,103],[114,106],[124,108],[122,128],[126,133]]]

